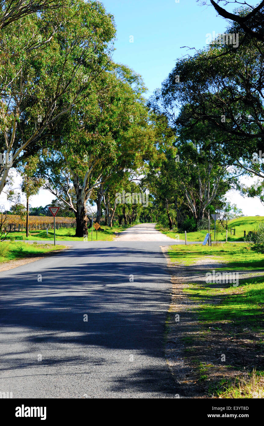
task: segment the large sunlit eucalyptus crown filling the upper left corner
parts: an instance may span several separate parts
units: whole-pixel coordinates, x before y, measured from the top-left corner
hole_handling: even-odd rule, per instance
[[[62,140],[63,115],[88,102],[115,35],[113,17],[99,2],[69,0],[17,16],[2,29],[0,43],[0,152],[12,154],[14,167]],[[10,170],[2,163],[0,193]]]

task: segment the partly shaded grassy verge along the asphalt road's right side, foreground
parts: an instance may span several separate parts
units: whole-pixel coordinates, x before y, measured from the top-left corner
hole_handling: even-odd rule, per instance
[[[179,265],[193,265],[208,257],[208,263],[209,258],[224,263],[224,267],[216,264],[212,268],[216,272],[248,271],[245,278],[239,277],[237,287],[232,283],[206,283],[205,274],[212,269],[202,272],[204,280],[193,279],[186,284],[183,293],[193,304],[192,315],[194,321],[198,318],[199,328],[196,334],[183,338],[182,343],[188,361],[193,362],[195,371],[198,371],[199,380],[208,383],[208,394],[222,398],[253,398],[260,394],[264,398],[261,361],[264,349],[264,272],[261,276],[253,276],[252,273],[253,270],[264,271],[264,254],[251,250],[247,243],[220,243],[212,247],[174,245],[168,254],[170,260]],[[201,277],[201,272],[197,276]],[[219,366],[219,361],[204,362],[205,359],[213,360],[217,351],[227,354],[228,363]],[[237,371],[235,377],[234,371]],[[214,377],[218,380],[215,381]]]

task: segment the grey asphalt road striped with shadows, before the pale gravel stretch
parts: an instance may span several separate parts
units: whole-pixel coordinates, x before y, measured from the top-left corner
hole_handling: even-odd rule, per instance
[[[162,240],[74,242],[0,273],[0,391],[175,397],[163,352],[171,285]]]

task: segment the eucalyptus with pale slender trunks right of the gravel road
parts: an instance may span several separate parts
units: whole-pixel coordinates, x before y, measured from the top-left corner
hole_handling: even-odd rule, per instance
[[[237,177],[230,170],[229,156],[222,151],[222,140],[221,133],[210,131],[208,125],[198,123],[192,130],[182,127],[172,146],[150,167],[143,181],[166,211],[170,229],[173,210],[178,228],[186,214],[197,224],[211,204],[236,187]]]

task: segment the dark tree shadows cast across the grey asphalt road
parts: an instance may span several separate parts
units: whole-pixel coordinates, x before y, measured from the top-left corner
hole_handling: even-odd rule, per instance
[[[164,360],[170,276],[162,253],[154,248],[150,252],[116,247],[88,251],[92,256],[78,250],[82,263],[76,265],[69,261],[68,266],[60,266],[63,258],[74,253],[76,257],[77,250],[69,250],[58,253],[53,268],[46,269],[39,261],[31,264],[31,272],[12,270],[1,278],[2,343],[17,343],[20,348],[3,354],[2,370],[28,369],[31,375],[31,368],[40,365],[36,354],[42,353],[47,354],[42,367],[65,369],[129,363],[132,354],[137,360],[133,371],[110,381],[111,391],[122,389],[125,380],[125,386],[134,391],[174,395],[175,383]],[[130,257],[128,262],[131,255],[133,260]],[[105,256],[113,256],[113,261],[105,261]],[[28,351],[21,350],[21,342]]]

